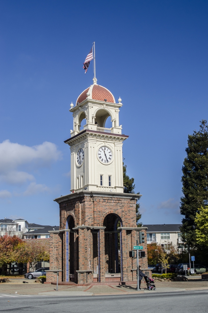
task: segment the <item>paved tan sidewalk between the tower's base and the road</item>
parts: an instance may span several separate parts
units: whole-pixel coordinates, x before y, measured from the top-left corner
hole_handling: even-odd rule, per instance
[[[14,279],[9,283],[0,284],[0,295],[128,295],[128,294],[144,294],[158,292],[172,292],[185,290],[208,290],[208,281],[202,281],[199,277],[190,277],[185,282],[156,282],[156,290],[145,290],[146,284],[141,284],[141,291],[136,291],[136,285],[91,285],[91,286],[64,286],[59,285],[56,291],[55,285],[35,283],[35,280]],[[23,283],[27,281],[28,283]]]

